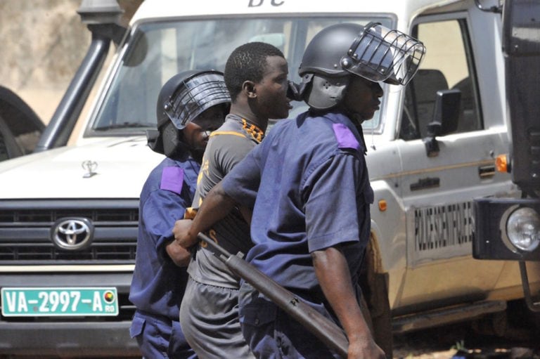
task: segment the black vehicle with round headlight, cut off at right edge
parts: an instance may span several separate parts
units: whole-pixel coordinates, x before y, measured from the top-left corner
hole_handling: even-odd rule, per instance
[[[527,261],[540,261],[540,4],[506,0],[503,7],[506,99],[510,115],[510,154],[500,171],[512,174],[521,198],[475,200],[476,259],[519,261],[527,307],[540,312],[529,285]]]

